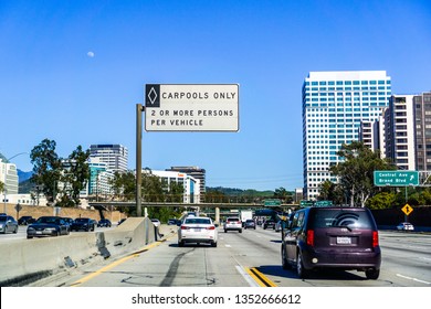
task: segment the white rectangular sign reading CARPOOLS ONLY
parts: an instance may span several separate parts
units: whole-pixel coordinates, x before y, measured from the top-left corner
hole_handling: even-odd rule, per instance
[[[147,84],[146,131],[238,131],[239,85]]]

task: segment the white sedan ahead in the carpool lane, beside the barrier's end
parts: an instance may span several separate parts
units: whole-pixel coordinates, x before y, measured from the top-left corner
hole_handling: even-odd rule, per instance
[[[186,243],[207,243],[217,247],[218,231],[210,217],[188,216],[178,228],[178,246]]]

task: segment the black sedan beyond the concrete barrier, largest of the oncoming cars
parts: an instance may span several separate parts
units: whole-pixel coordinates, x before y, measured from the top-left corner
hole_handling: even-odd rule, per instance
[[[27,238],[60,235],[69,235],[69,225],[59,216],[41,216],[27,227]]]

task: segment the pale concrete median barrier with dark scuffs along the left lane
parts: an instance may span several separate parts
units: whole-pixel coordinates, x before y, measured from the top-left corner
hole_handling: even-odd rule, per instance
[[[155,241],[149,219],[129,217],[106,232],[1,243],[0,286],[24,286],[69,268],[137,251]]]

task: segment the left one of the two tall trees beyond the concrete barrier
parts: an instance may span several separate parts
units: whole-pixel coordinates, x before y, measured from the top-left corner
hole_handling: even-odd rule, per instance
[[[61,178],[61,158],[55,147],[54,140],[44,139],[30,153],[30,162],[33,164],[31,181],[39,185],[49,203],[55,202]]]

